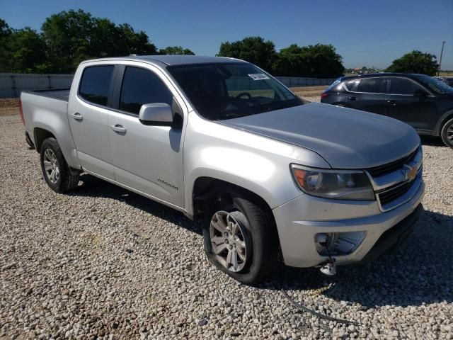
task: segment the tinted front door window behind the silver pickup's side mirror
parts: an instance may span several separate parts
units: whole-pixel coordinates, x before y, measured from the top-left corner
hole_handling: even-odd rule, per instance
[[[171,106],[173,95],[159,77],[147,69],[126,67],[122,79],[120,110],[139,114],[143,104],[167,103]]]

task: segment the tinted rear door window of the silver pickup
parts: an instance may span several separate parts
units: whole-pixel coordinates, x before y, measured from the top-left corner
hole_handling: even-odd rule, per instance
[[[107,106],[113,65],[86,67],[80,81],[79,96],[90,103]]]

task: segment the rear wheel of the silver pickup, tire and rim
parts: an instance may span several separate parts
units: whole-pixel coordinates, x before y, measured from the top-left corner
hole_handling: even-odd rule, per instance
[[[56,193],[65,193],[79,184],[79,174],[71,174],[62,149],[55,138],[47,138],[42,142],[40,162],[42,176],[47,185]]]

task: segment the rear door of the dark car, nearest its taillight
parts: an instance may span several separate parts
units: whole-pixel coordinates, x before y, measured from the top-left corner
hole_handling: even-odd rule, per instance
[[[387,108],[386,77],[362,78],[348,81],[345,106],[357,110],[386,114]]]

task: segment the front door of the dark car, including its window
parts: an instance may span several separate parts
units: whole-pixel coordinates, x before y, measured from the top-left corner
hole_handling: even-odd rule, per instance
[[[436,98],[415,81],[390,77],[389,108],[387,115],[408,123],[416,130],[430,131],[437,113]],[[426,96],[414,96],[416,90],[424,91]]]

